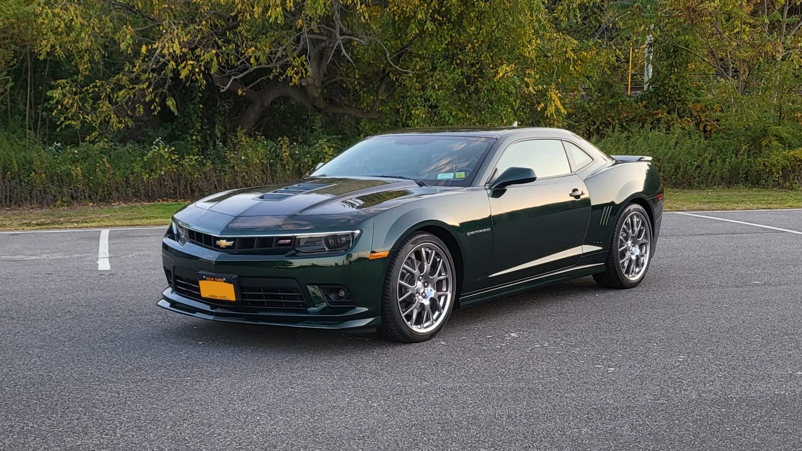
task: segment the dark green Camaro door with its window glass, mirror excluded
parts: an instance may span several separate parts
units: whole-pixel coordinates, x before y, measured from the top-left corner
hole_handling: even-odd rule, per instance
[[[509,144],[493,178],[505,169],[533,169],[537,180],[488,188],[492,217],[492,285],[573,266],[581,256],[590,216],[590,197],[571,172],[561,140]]]

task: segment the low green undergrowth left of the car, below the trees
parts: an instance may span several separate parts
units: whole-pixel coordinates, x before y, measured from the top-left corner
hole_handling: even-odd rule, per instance
[[[342,149],[337,136],[307,142],[237,136],[201,154],[157,138],[148,146],[109,142],[46,146],[0,133],[0,205],[68,205],[192,199],[224,189],[303,177]]]

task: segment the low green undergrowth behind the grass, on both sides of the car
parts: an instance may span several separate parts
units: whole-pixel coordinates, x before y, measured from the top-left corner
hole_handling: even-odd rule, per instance
[[[610,154],[650,155],[667,186],[802,186],[799,125],[745,124],[726,117],[716,132],[695,124],[606,131],[596,144]],[[228,145],[197,149],[184,141],[45,145],[0,133],[0,205],[69,205],[194,199],[236,187],[304,177],[345,148],[339,136],[314,132],[302,142],[237,134]]]

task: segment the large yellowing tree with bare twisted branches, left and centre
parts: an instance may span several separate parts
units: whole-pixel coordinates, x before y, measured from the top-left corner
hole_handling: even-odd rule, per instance
[[[51,91],[62,123],[97,130],[179,114],[178,87],[210,86],[237,99],[245,129],[279,98],[407,124],[545,120],[593,58],[538,0],[61,0],[37,14],[40,55],[77,69]]]

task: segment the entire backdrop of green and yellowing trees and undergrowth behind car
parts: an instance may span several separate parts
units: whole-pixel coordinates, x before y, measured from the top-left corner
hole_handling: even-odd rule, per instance
[[[800,86],[800,0],[5,0],[0,205],[200,197],[514,120],[667,185],[794,188]]]

